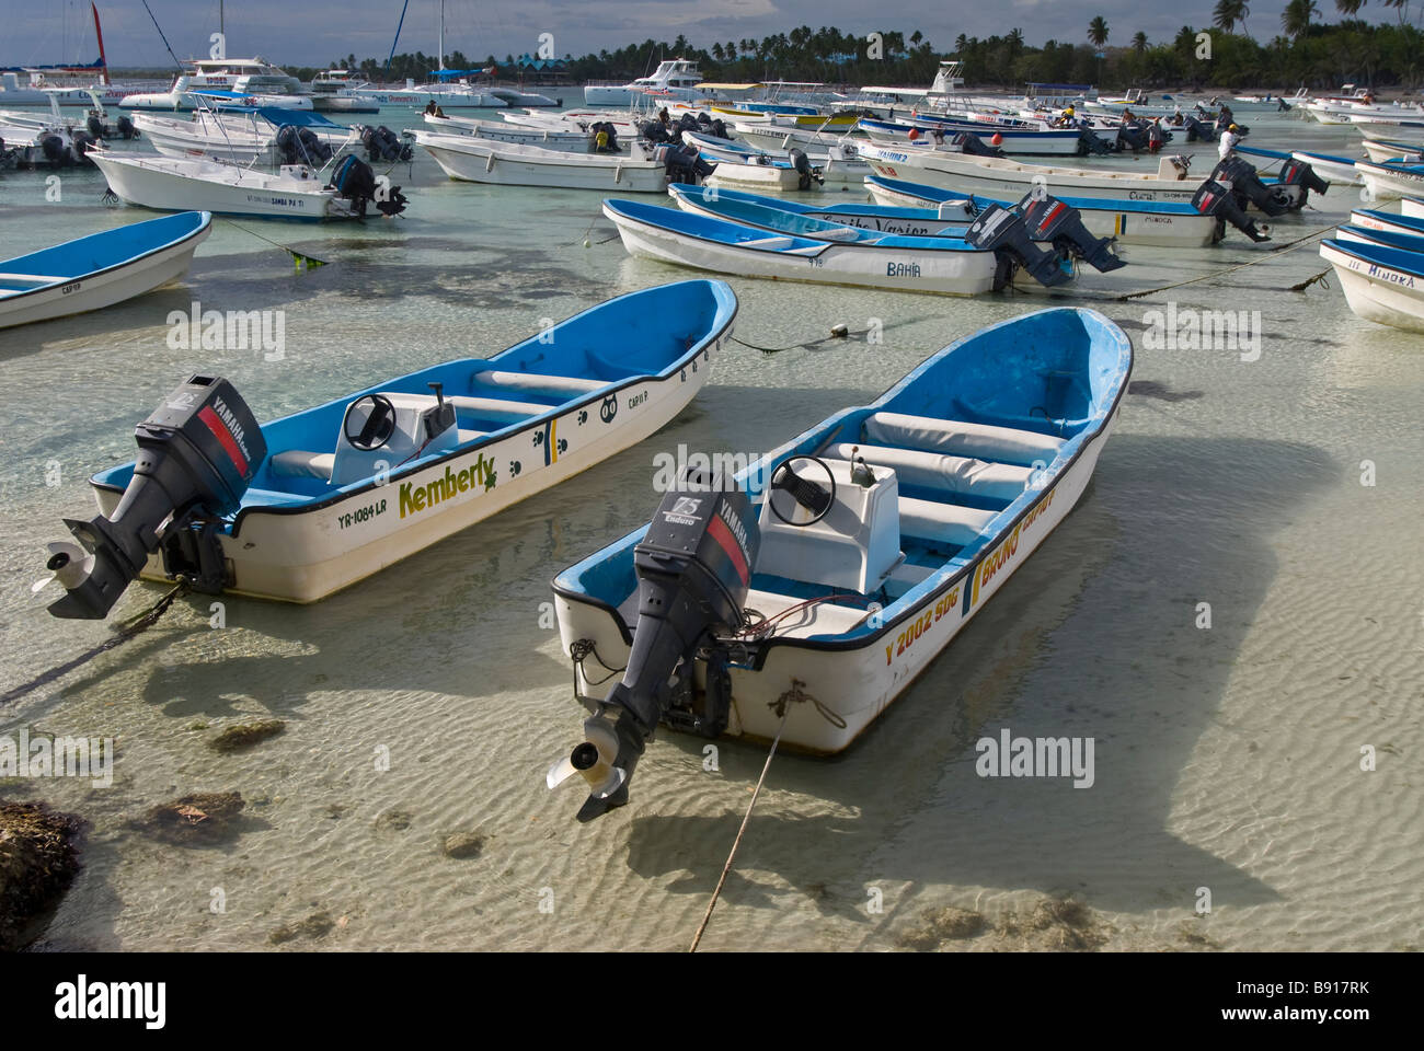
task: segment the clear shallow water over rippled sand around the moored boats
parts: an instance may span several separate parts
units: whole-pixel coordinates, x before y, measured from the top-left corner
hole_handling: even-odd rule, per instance
[[[1247,120],[1257,145],[1353,152],[1351,130]],[[132,426],[191,372],[221,372],[269,419],[688,276],[628,258],[595,194],[456,184],[424,155],[392,175],[412,201],[399,221],[219,221],[182,285],[0,333],[0,685],[107,638],[107,625],[50,618],[30,584],[61,517],[93,513],[87,476],[131,459]],[[147,215],[104,206],[97,172],[64,175],[58,202],[44,185],[0,179],[0,258]],[[1282,219],[1277,244],[1357,202],[1331,189]],[[330,265],[298,272],[258,235]],[[776,758],[703,946],[893,948],[943,906],[993,924],[948,944],[1018,944],[1004,917],[1072,893],[1108,947],[1417,947],[1424,342],[1356,318],[1333,281],[1284,291],[1324,269],[1313,245],[1229,273],[1263,251],[1233,234],[1122,255],[1129,268],[1052,296],[732,279],[749,343],[873,319],[884,342],[738,347],[669,427],[557,490],[313,607],[229,598],[214,629],[211,600],[188,598],[4,708],[0,733],[118,739],[111,788],[0,782],[0,799],[91,822],[84,872],[41,944],[263,948],[275,929],[326,913],[326,934],[289,944],[685,947],[765,752],[722,742],[721,769],[705,772],[701,741],[659,735],[632,805],[577,825],[581,793],[551,793],[543,776],[582,718],[548,628],[550,578],[646,520],[656,453],[759,453],[965,333],[1081,303],[1128,330],[1146,385],[1126,397],[1087,497],[853,749]],[[285,310],[285,360],[169,349],[168,312],[194,300]],[[1145,315],[1168,300],[1260,310],[1259,360],[1148,349]],[[1361,484],[1366,460],[1374,486]],[[115,615],[158,594],[135,585]],[[286,731],[236,755],[206,746],[253,718]],[[974,742],[1005,726],[1092,736],[1095,785],[975,776]],[[1373,772],[1360,770],[1366,745]],[[248,800],[222,845],[167,846],[130,826],[174,796],[221,790]],[[484,836],[478,857],[444,856],[454,832]],[[215,889],[225,911],[209,907]]]

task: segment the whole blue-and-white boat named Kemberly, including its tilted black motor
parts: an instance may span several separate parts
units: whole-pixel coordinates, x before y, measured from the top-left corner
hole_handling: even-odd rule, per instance
[[[140,424],[137,464],[91,479],[100,517],[50,548],[67,590],[51,612],[104,617],[140,572],[323,598],[651,436],[735,316],[719,281],[631,292],[261,426],[231,383],[194,376]]]

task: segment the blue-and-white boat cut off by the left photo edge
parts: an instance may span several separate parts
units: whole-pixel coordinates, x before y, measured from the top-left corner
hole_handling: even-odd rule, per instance
[[[0,259],[0,329],[112,306],[188,272],[212,215],[184,212]]]

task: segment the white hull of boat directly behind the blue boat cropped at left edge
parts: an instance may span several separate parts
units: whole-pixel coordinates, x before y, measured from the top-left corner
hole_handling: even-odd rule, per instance
[[[91,152],[104,172],[110,189],[128,204],[161,212],[221,212],[224,215],[263,215],[282,219],[326,219],[349,215],[346,202],[333,191],[320,189],[320,179],[310,179],[312,189],[302,191],[292,181],[279,181],[211,161],[118,158]]]

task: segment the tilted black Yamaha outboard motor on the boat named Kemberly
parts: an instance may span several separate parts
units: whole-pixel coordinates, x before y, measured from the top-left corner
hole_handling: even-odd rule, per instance
[[[134,432],[138,460],[118,507],[66,518],[78,544],[50,544],[47,563],[67,594],[56,617],[103,619],[164,550],[164,568],[219,591],[226,568],[216,524],[238,510],[266,441],[252,410],[221,376],[191,376]]]

